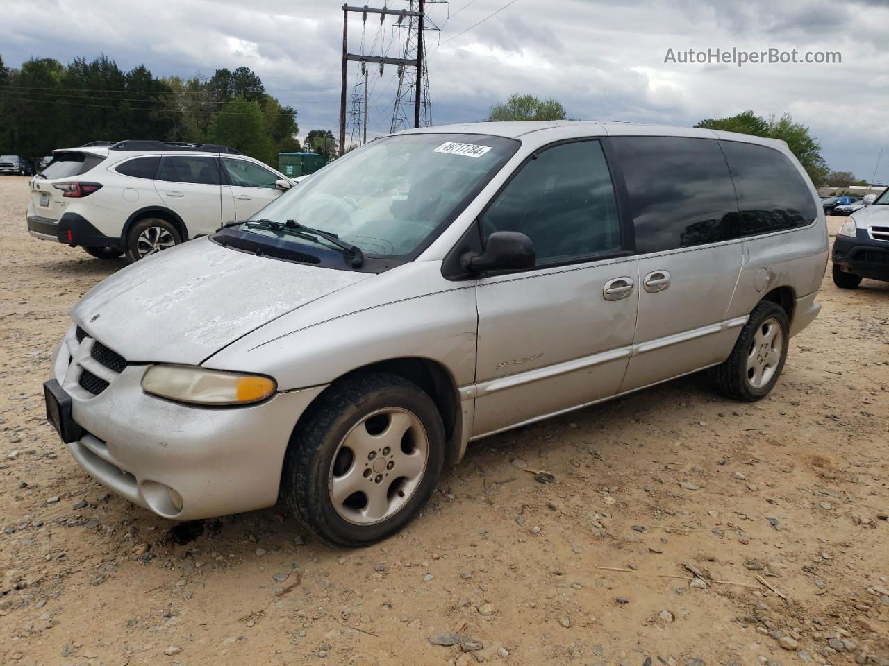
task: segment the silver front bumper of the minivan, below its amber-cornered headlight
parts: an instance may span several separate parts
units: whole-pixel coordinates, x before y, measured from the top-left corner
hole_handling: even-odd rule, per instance
[[[78,344],[74,329],[53,358],[53,375],[84,429],[68,450],[95,480],[169,519],[276,503],[293,427],[324,386],[277,393],[248,407],[200,408],[148,395],[141,389],[148,366],[128,365],[93,395],[79,385],[79,363],[92,363],[92,338]]]

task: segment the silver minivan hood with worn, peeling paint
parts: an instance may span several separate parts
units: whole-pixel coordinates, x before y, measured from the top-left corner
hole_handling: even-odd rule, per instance
[[[257,257],[201,238],[111,275],[71,316],[127,361],[196,365],[268,321],[369,277]]]

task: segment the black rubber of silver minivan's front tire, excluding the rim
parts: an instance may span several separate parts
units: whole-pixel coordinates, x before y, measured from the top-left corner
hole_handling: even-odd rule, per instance
[[[419,419],[427,438],[426,463],[412,494],[393,515],[373,524],[356,524],[343,518],[334,507],[329,489],[336,473],[334,456],[340,450],[340,442],[354,428],[364,427],[361,424],[365,417],[386,408],[401,409]],[[342,474],[363,462],[363,457],[355,456]],[[284,456],[281,496],[300,523],[322,541],[337,546],[364,546],[395,534],[422,510],[436,488],[444,464],[445,427],[428,394],[403,377],[358,374],[331,385],[300,419],[299,431],[293,432]],[[366,470],[364,477],[372,483]],[[383,492],[388,495],[399,480],[387,483],[390,485],[380,488],[386,488]],[[368,496],[364,495],[364,500],[369,506]]]

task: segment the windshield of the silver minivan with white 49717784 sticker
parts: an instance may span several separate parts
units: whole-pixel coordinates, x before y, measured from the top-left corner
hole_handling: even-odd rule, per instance
[[[408,258],[481,191],[515,154],[515,139],[402,134],[376,139],[312,174],[252,219],[315,227],[381,258]],[[242,227],[282,238],[268,225]],[[305,244],[300,236],[283,240]],[[325,247],[329,241],[316,237]]]

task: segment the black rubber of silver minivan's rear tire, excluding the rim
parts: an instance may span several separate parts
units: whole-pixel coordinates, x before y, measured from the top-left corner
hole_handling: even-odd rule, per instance
[[[756,386],[751,383],[752,380],[749,377],[748,359],[750,354],[755,351],[757,331],[770,321],[776,322],[781,328],[780,360],[774,366],[771,379],[764,385]],[[784,312],[781,305],[772,301],[762,301],[753,308],[749,321],[741,329],[741,334],[738,336],[731,355],[710,371],[719,392],[734,400],[745,402],[756,402],[765,398],[772,391],[778,378],[781,377],[781,370],[784,369],[789,346],[789,329],[787,313]]]

